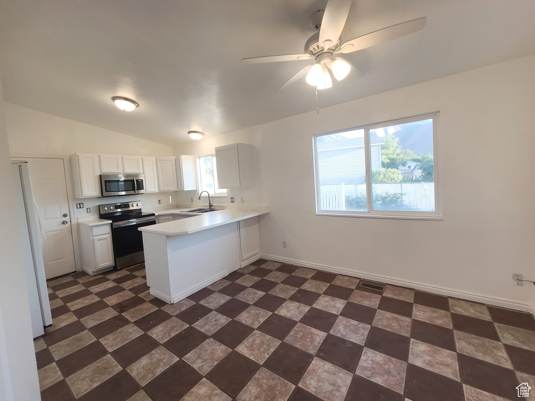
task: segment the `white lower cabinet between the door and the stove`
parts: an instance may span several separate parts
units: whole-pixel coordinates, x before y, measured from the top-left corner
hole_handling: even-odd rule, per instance
[[[82,248],[82,267],[91,275],[115,264],[111,223],[98,226],[79,224]]]

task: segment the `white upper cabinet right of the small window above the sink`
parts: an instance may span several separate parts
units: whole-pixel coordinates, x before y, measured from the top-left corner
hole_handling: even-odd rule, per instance
[[[216,148],[217,183],[219,188],[250,188],[253,186],[251,145],[233,143]]]

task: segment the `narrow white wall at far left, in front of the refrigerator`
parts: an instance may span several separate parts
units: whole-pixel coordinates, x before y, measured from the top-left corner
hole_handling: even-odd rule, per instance
[[[0,399],[41,399],[0,84]]]

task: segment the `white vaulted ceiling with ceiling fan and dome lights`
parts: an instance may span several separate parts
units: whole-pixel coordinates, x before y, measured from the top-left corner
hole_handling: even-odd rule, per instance
[[[6,102],[174,145],[316,108],[308,61],[243,65],[299,53],[318,0],[2,0]],[[342,40],[418,17],[423,30],[350,53],[357,71],[319,91],[319,107],[535,53],[535,3],[354,0]],[[123,112],[111,97],[135,99]]]

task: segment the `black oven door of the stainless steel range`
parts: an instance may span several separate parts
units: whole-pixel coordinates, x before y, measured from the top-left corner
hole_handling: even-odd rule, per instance
[[[111,226],[115,268],[136,265],[145,260],[143,253],[143,234],[137,229],[156,224],[156,217],[118,221]]]

